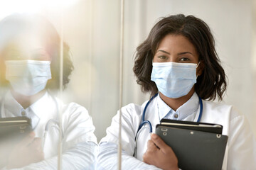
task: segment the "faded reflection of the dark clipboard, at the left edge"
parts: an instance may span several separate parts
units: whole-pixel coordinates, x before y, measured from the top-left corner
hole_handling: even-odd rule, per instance
[[[31,132],[31,119],[25,116],[0,118],[0,142],[16,142]]]

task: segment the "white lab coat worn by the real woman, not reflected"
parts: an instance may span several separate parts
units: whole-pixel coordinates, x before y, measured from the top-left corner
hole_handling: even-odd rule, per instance
[[[159,124],[157,99],[159,99],[159,96],[151,101],[145,116],[145,120],[151,122],[153,132],[156,130],[156,124]],[[146,152],[147,140],[150,139],[148,125],[144,125],[138,136],[137,159],[132,157],[135,149],[134,138],[142,122],[142,112],[146,103],[147,101],[142,106],[132,103],[122,108],[123,169],[158,169],[142,162],[142,156]],[[183,120],[195,121],[198,113],[189,115]],[[228,135],[229,137],[223,169],[256,169],[255,137],[250,130],[250,125],[247,123],[245,115],[235,111],[233,106],[203,101],[201,122],[223,125],[223,135]],[[107,136],[100,141],[100,153],[97,158],[99,169],[113,169],[117,166],[118,127],[119,113],[114,116],[111,126],[107,128]]]

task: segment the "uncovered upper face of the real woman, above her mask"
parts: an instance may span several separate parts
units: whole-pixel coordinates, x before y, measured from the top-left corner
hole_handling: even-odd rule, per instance
[[[183,35],[166,35],[156,50],[153,62],[183,62],[198,64],[198,53]]]

